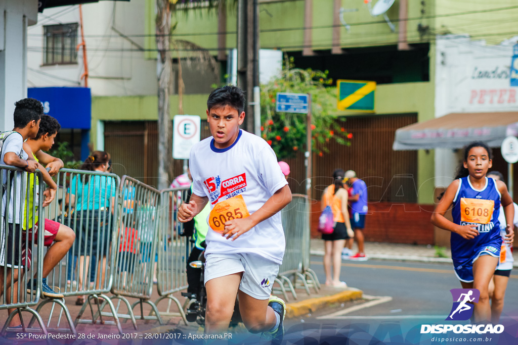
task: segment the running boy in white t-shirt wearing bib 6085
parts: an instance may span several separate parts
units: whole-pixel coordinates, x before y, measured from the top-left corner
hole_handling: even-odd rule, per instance
[[[244,104],[244,94],[235,86],[209,95],[212,138],[191,149],[193,194],[180,207],[178,219],[191,220],[210,202],[205,332],[226,332],[238,295],[249,332],[281,340],[285,304],[270,293],[285,249],[279,211],[292,196],[271,147],[239,129]]]

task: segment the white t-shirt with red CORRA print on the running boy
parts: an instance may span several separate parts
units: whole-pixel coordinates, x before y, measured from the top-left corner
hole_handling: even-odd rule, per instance
[[[279,189],[287,185],[286,178],[277,163],[274,150],[262,138],[240,130],[234,144],[225,149],[213,145],[212,137],[193,146],[189,160],[193,178],[193,193],[208,197],[211,211],[219,202],[227,199],[244,200],[248,213],[252,214]],[[219,204],[220,206],[223,204]],[[232,207],[235,211],[235,207]],[[246,210],[234,212],[232,217]],[[218,209],[218,207],[216,208]],[[227,209],[225,209],[226,213]],[[232,209],[228,211],[232,214]],[[230,216],[229,216],[230,217]],[[208,217],[209,226],[214,215]],[[221,233],[211,230],[207,233],[207,254],[255,253],[277,264],[282,263],[285,240],[280,212],[257,224],[236,241],[226,239]]]

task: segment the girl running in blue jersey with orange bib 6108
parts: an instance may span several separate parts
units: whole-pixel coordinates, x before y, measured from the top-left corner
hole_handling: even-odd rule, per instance
[[[491,320],[487,288],[500,256],[500,203],[507,224],[513,223],[513,201],[507,186],[487,178],[492,167],[491,149],[482,142],[466,146],[464,162],[455,181],[446,189],[431,216],[435,226],[451,231],[451,252],[455,274],[464,289],[478,289],[479,302],[474,305],[474,321]],[[453,222],[444,214],[452,210]],[[512,243],[513,231],[507,225],[506,243]]]

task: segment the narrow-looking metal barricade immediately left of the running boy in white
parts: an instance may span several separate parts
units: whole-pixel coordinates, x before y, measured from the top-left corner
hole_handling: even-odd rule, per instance
[[[158,293],[160,298],[155,302],[158,305],[164,299],[168,299],[166,314],[168,316],[180,316],[187,324],[185,313],[180,301],[172,294],[188,287],[186,262],[189,258],[192,245],[190,237],[183,236],[183,224],[176,220],[176,210],[186,200],[189,189],[171,188],[164,189],[160,195],[160,231],[159,231],[159,264]],[[171,302],[175,302],[178,313],[169,312]]]

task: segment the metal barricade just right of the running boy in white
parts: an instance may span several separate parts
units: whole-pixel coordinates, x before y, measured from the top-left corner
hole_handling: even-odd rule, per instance
[[[318,292],[318,279],[312,274],[308,265],[304,267],[305,260],[309,264],[309,203],[307,196],[303,194],[293,194],[292,202],[281,211],[282,227],[286,239],[286,249],[279,267],[279,274],[275,281],[280,286],[280,292],[286,301],[287,297],[284,284],[287,284],[293,297],[297,299],[295,293],[296,278],[300,278],[303,286],[310,294],[309,286]],[[306,277],[311,279],[308,282]],[[289,278],[292,277],[292,280]]]

